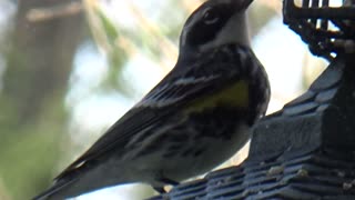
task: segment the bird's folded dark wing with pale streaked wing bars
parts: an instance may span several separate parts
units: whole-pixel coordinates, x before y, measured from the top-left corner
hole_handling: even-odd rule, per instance
[[[224,68],[235,66],[224,63]],[[220,66],[221,67],[221,66]],[[173,71],[172,71],[173,72]],[[158,126],[160,120],[181,109],[181,106],[206,96],[227,84],[236,74],[214,73],[205,77],[184,77],[170,79],[168,76],[151,90],[136,106],[116,121],[84,154],[70,164],[55,180],[72,174],[78,169],[91,166],[91,161],[100,160],[106,152],[116,147],[124,147],[140,130]],[[115,152],[118,156],[120,152]]]

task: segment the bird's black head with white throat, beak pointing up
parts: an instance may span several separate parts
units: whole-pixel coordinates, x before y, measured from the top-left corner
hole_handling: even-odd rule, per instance
[[[250,46],[245,11],[252,1],[209,0],[203,3],[184,24],[180,56],[199,54],[227,43]]]

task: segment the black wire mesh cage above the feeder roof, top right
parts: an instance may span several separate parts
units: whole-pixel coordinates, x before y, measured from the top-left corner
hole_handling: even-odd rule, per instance
[[[355,1],[331,7],[332,0],[284,0],[284,23],[308,43],[312,53],[332,60],[355,52]]]

